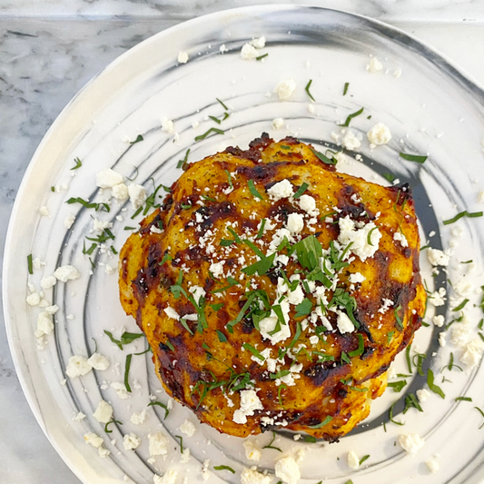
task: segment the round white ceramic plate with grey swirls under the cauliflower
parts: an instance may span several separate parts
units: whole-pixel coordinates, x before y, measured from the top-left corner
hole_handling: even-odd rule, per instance
[[[242,60],[242,45],[261,35],[267,43],[260,54],[268,55],[261,61]],[[181,51],[189,54],[187,64],[177,63]],[[370,55],[383,65],[380,72],[367,72]],[[400,77],[395,72],[400,72]],[[280,101],[273,88],[290,78],[297,89],[288,101]],[[310,79],[315,103],[304,90]],[[343,96],[345,83],[350,85]],[[216,98],[231,114],[220,125],[207,117],[220,117],[224,112]],[[447,273],[440,270],[434,278],[426,257],[422,257],[422,273],[430,291],[435,286],[446,287],[449,292],[446,305],[438,308],[449,322],[453,315],[459,316],[459,311],[451,310],[464,298],[452,292],[446,278],[455,284],[465,277],[464,281],[472,281],[476,288],[483,283],[483,219],[462,218],[448,226],[441,223],[457,212],[479,210],[477,194],[483,184],[476,179],[483,163],[483,105],[484,95],[476,85],[410,36],[355,15],[292,6],[251,7],[178,25],[123,54],[76,95],[45,135],[25,173],[7,238],[4,301],[9,341],[27,398],[46,435],[79,478],[86,483],[143,484],[153,482],[154,472],[161,475],[167,469],[177,469],[177,483],[185,478],[185,482],[202,482],[203,462],[210,459],[206,464],[210,483],[235,483],[240,482],[241,470],[253,464],[272,473],[274,460],[282,455],[264,449],[260,462],[249,461],[241,439],[199,425],[176,403],[168,419],[163,420],[162,408],[147,408],[150,396],[163,403],[167,403],[167,397],[146,354],[133,356],[129,377],[133,392],[128,400],[121,400],[110,386],[111,382],[123,381],[126,355],[143,351],[145,342],[134,341],[121,351],[105,336],[104,330],[113,331],[116,338],[123,329],[138,330],[123,314],[116,275],[106,273],[103,264],[116,266],[109,246],[119,250],[128,233],[124,227],[135,225],[140,217],[131,220],[129,202],[110,202],[110,212],[66,204],[77,196],[92,202],[110,198],[109,190],[102,193],[96,189],[95,173],[106,167],[130,178],[137,173],[134,183],[142,183],[152,193],[153,183],[170,185],[180,176],[176,164],[188,148],[189,161],[196,161],[228,145],[244,147],[262,132],[276,139],[291,134],[302,141],[336,147],[331,132],[341,134],[337,123],[364,107],[363,114],[351,121],[351,131],[361,135],[357,153],[363,156],[362,161],[349,157],[340,168],[370,181],[385,183],[380,175],[393,173],[401,182],[411,183],[424,240],[433,231],[432,247],[452,247]],[[178,134],[161,129],[163,117],[173,120]],[[284,126],[274,131],[272,119],[277,117],[284,119]],[[387,124],[393,137],[389,144],[370,150],[365,133],[377,122]],[[212,127],[225,134],[194,142],[195,136]],[[143,142],[127,143],[138,134],[143,135]],[[430,156],[424,164],[411,163],[402,160],[399,152]],[[83,165],[72,171],[76,157]],[[53,193],[52,186],[60,192]],[[47,207],[49,216],[39,214],[41,206]],[[69,213],[76,218],[72,228],[66,229],[64,219]],[[93,236],[94,215],[114,223],[115,240],[107,243],[105,253],[94,251],[96,268],[91,272],[91,263],[82,252],[85,236]],[[123,222],[118,220],[120,215]],[[86,248],[89,246],[87,242]],[[45,262],[32,275],[27,272],[29,253]],[[459,263],[469,260],[473,262]],[[39,349],[34,331],[41,310],[25,303],[27,282],[38,291],[41,279],[64,264],[73,264],[81,278],[58,282],[54,289],[45,291],[45,299],[57,304],[60,311],[54,316],[54,333],[44,338],[43,349]],[[464,342],[476,338],[482,316],[479,305],[474,306],[480,301],[479,291],[469,291],[466,297],[470,300],[465,311],[472,331]],[[465,371],[459,363],[463,351],[450,342],[440,347],[443,328],[431,323],[433,311],[430,305],[426,318],[430,326],[418,332],[412,354],[419,351],[427,355],[423,372],[434,371],[446,399],[430,393],[421,404],[423,412],[410,409],[400,415],[404,426],[389,422],[388,410],[394,401],[394,415],[399,415],[405,395],[425,387],[425,377],[411,376],[406,378],[403,390],[389,389],[375,401],[370,419],[337,444],[295,441],[281,433],[274,445],[284,455],[299,455],[301,482],[312,484],[324,479],[339,484],[352,479],[355,484],[389,480],[431,484],[483,479],[484,430],[479,430],[482,417],[473,409],[484,404],[484,390],[479,384],[482,370]],[[111,368],[66,379],[64,369],[69,357],[89,355],[95,345],[110,358]],[[440,372],[448,364],[450,352],[464,371],[454,368]],[[408,372],[404,355],[397,361],[397,371]],[[441,382],[443,376],[451,382]],[[463,395],[472,402],[455,401]],[[115,419],[123,422],[113,425],[109,434],[92,417],[101,399],[112,403]],[[134,425],[130,416],[141,410],[147,410],[149,418],[142,425]],[[87,417],[73,421],[78,411]],[[183,440],[192,457],[180,464],[175,436],[183,436],[178,427],[187,418],[196,423],[197,430],[191,439]],[[158,457],[150,464],[146,436],[158,430],[170,436],[171,444],[166,459]],[[103,437],[104,447],[111,451],[109,457],[100,458],[96,449],[84,444],[87,431]],[[142,444],[135,451],[125,451],[123,435],[132,431],[143,438]],[[415,457],[396,444],[402,433],[419,433],[424,438],[425,445]],[[263,446],[271,439],[271,434],[265,434],[252,440]],[[350,449],[360,457],[370,455],[361,469],[348,468],[346,454]],[[431,474],[424,462],[435,454],[440,455],[440,472]],[[213,469],[219,465],[230,466],[236,473]],[[278,480],[274,477],[272,482]]]

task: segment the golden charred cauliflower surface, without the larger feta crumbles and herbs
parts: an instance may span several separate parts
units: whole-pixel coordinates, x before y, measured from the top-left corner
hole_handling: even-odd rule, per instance
[[[232,173],[230,179],[227,173]],[[262,200],[251,192],[251,180]],[[319,215],[308,215],[292,199],[272,200],[268,191],[282,180],[289,180],[294,192],[307,183],[304,194],[315,199]],[[360,227],[373,222],[378,227],[378,251],[364,261],[351,256],[337,282],[341,291],[356,301],[354,317],[359,329],[341,334],[338,315],[327,311],[334,331],[325,331],[324,327],[321,329],[321,320],[306,323],[304,320],[310,315],[295,317],[296,305],[290,306],[291,336],[274,344],[254,328],[247,312],[240,321],[231,322],[237,320],[249,291],[265,291],[273,305],[277,303],[281,269],[288,278],[303,270],[299,258],[293,256],[286,266],[274,263],[264,275],[242,272],[258,261],[252,248],[242,240],[252,239],[263,254],[270,253],[274,233],[286,227],[291,213],[301,214],[305,221],[301,233],[294,234],[295,241],[316,237],[324,250],[339,237],[339,219],[351,219]],[[316,221],[311,221],[314,218]],[[254,240],[262,219],[271,220],[274,227]],[[160,226],[163,232],[157,233]],[[222,240],[235,239],[229,226],[241,242],[221,246]],[[395,240],[395,233],[404,234],[408,246],[399,238]],[[133,233],[123,246],[120,297],[124,311],[136,319],[153,348],[163,387],[203,422],[241,437],[283,426],[337,440],[368,415],[370,400],[385,389],[385,371],[390,362],[420,327],[426,296],[420,283],[419,247],[408,187],[382,187],[337,173],[334,166],[319,159],[311,146],[293,138],[274,143],[263,135],[246,152],[229,148],[193,163],[173,183],[163,206],[146,217],[139,233]],[[287,253],[287,249],[278,253]],[[166,260],[166,254],[170,260]],[[163,257],[165,262],[161,264]],[[223,275],[214,277],[210,272],[214,262],[223,262]],[[351,283],[350,275],[357,272],[365,280]],[[232,285],[228,273],[240,284]],[[178,294],[173,285],[177,285],[180,274],[184,292]],[[196,301],[193,304],[193,297],[192,301],[189,297],[192,286],[202,287],[205,301],[198,311],[198,321],[184,321],[183,325],[164,310],[171,308],[181,318],[195,313]],[[231,287],[217,292],[226,286]],[[307,289],[304,286],[304,296],[314,303],[314,292]],[[329,305],[332,294],[328,290]],[[385,300],[391,305],[382,311]],[[222,302],[220,309],[211,306]],[[315,308],[312,307],[313,312]],[[341,307],[340,310],[343,311]],[[280,384],[281,380],[274,378],[275,372],[268,370],[267,361],[259,364],[252,352],[243,348],[244,343],[258,351],[269,347],[271,358],[275,359],[278,351],[288,349],[298,330],[299,338],[277,367],[281,372],[290,370],[291,363],[302,365],[301,370],[292,373],[292,386]],[[316,343],[311,338],[315,331],[320,331],[321,336]],[[361,342],[361,354],[349,356],[351,352],[358,353]],[[327,355],[326,361],[317,362],[321,354]],[[240,424],[233,418],[241,406],[241,389],[237,385],[246,383],[245,375],[257,389],[263,410],[255,410],[247,416],[246,424]],[[250,383],[246,388],[252,389]]]

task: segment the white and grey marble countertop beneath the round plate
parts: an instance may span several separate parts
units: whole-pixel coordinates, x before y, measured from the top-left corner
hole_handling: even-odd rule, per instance
[[[258,4],[257,0],[0,0],[0,254],[15,193],[37,144],[94,74],[133,45],[185,19]],[[478,0],[432,0],[426,5],[418,0],[328,0],[311,5],[395,25],[447,55],[484,85],[484,3]],[[1,482],[79,483],[26,403],[1,314],[0,407]]]

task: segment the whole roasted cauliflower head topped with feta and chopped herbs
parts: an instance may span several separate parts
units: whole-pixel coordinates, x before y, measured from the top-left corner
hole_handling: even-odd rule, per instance
[[[121,302],[202,422],[338,440],[420,327],[419,247],[409,186],[263,133],[173,183],[123,246]]]

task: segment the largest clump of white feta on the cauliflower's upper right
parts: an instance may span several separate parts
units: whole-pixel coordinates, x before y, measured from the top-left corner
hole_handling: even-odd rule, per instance
[[[340,225],[340,235],[338,242],[347,246],[351,244],[351,252],[360,257],[361,262],[365,262],[369,257],[373,257],[378,251],[381,233],[373,223],[366,223],[361,229],[355,229],[355,222],[347,215],[338,221]],[[369,242],[370,238],[370,243]]]

